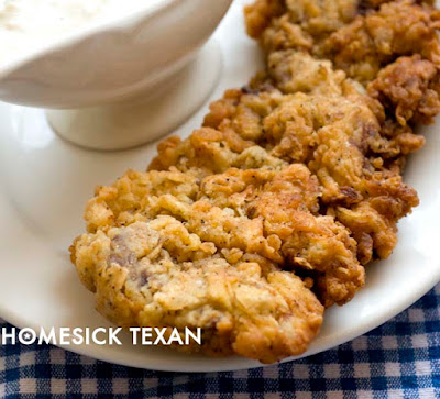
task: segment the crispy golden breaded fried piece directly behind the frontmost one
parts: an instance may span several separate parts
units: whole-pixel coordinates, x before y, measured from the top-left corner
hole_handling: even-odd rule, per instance
[[[89,232],[165,212],[184,220],[191,234],[218,251],[240,250],[279,267],[315,270],[326,306],[346,302],[363,286],[355,242],[332,217],[318,214],[318,180],[305,166],[232,168],[202,179],[204,173],[194,167],[185,169],[191,176],[186,179],[173,170],[173,180],[162,177],[166,173],[129,173],[113,187],[98,188],[86,211]]]

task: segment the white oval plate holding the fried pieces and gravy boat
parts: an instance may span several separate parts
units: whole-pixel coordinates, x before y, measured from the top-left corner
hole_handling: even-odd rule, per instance
[[[212,99],[240,87],[260,67],[256,44],[244,34],[242,1],[235,1],[216,33],[224,55],[223,79]],[[200,125],[207,104],[176,133]],[[393,256],[367,269],[365,288],[332,308],[308,356],[350,341],[384,323],[440,280],[440,137],[424,129],[426,147],[411,157],[406,181],[421,206],[399,223]],[[84,231],[84,206],[97,184],[110,184],[127,168],[143,169],[155,144],[119,153],[88,152],[59,140],[41,110],[0,104],[0,317],[12,324],[110,326],[94,309],[94,297],[72,266],[67,248]],[[241,357],[208,358],[158,347],[82,345],[66,350],[128,366],[174,372],[219,372],[261,366]]]

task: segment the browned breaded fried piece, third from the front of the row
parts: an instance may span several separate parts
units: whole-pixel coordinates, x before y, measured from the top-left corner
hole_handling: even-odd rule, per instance
[[[297,53],[296,57],[299,56],[305,63],[311,63],[312,58],[308,55]],[[315,63],[320,65],[318,60]],[[312,67],[308,70],[322,75],[326,69]],[[331,71],[326,71],[323,76],[328,81]],[[344,85],[337,74],[333,78],[329,88]],[[315,77],[310,80],[315,81]],[[320,86],[314,90],[319,92]],[[243,130],[240,125],[241,115],[253,112],[253,98],[257,98],[255,101],[258,103],[262,99],[271,99],[267,103],[272,104],[278,96],[267,92],[235,92],[232,96],[232,92],[228,92],[224,99],[211,106],[206,124],[228,134],[238,134]],[[243,107],[248,110],[244,111]],[[358,253],[363,264],[372,261],[374,254],[380,258],[389,256],[397,242],[397,221],[418,204],[416,191],[405,185],[399,176],[398,163],[403,156],[420,148],[422,137],[395,126],[389,132],[385,129],[388,128],[387,123],[381,125],[370,102],[361,93],[339,96],[331,95],[330,90],[328,96],[296,93],[280,97],[276,108],[261,109],[270,108],[273,111],[264,118],[258,114],[260,122],[253,119],[253,129],[265,132],[264,136],[257,138],[257,144],[265,147],[265,156],[270,156],[272,162],[275,157],[308,166],[321,186],[321,209],[348,225],[354,236],[362,241]],[[219,115],[223,118],[221,123],[217,122]],[[215,148],[212,145],[211,154]],[[228,151],[227,144],[224,148]],[[182,147],[177,146],[176,152],[182,154]],[[169,152],[160,152],[160,158],[163,162],[176,159]],[[188,156],[182,156],[178,163],[190,164],[189,159]],[[198,157],[197,162],[201,159]],[[346,211],[359,210],[361,202],[364,202],[362,210],[369,223],[359,223],[354,228],[352,220],[346,218]],[[380,234],[384,226],[387,229]]]

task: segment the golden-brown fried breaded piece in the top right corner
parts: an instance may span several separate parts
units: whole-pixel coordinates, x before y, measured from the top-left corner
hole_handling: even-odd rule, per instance
[[[315,54],[331,58],[358,81],[367,84],[398,56],[419,54],[440,65],[439,12],[409,0],[384,3],[332,33]]]

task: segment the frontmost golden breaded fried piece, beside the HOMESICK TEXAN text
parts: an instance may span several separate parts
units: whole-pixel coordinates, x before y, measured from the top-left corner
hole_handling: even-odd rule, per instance
[[[306,284],[264,273],[252,256],[234,262],[229,253],[230,263],[213,252],[179,220],[158,215],[80,236],[73,259],[97,309],[118,325],[201,328],[201,347],[177,348],[264,363],[306,351],[323,311]]]

